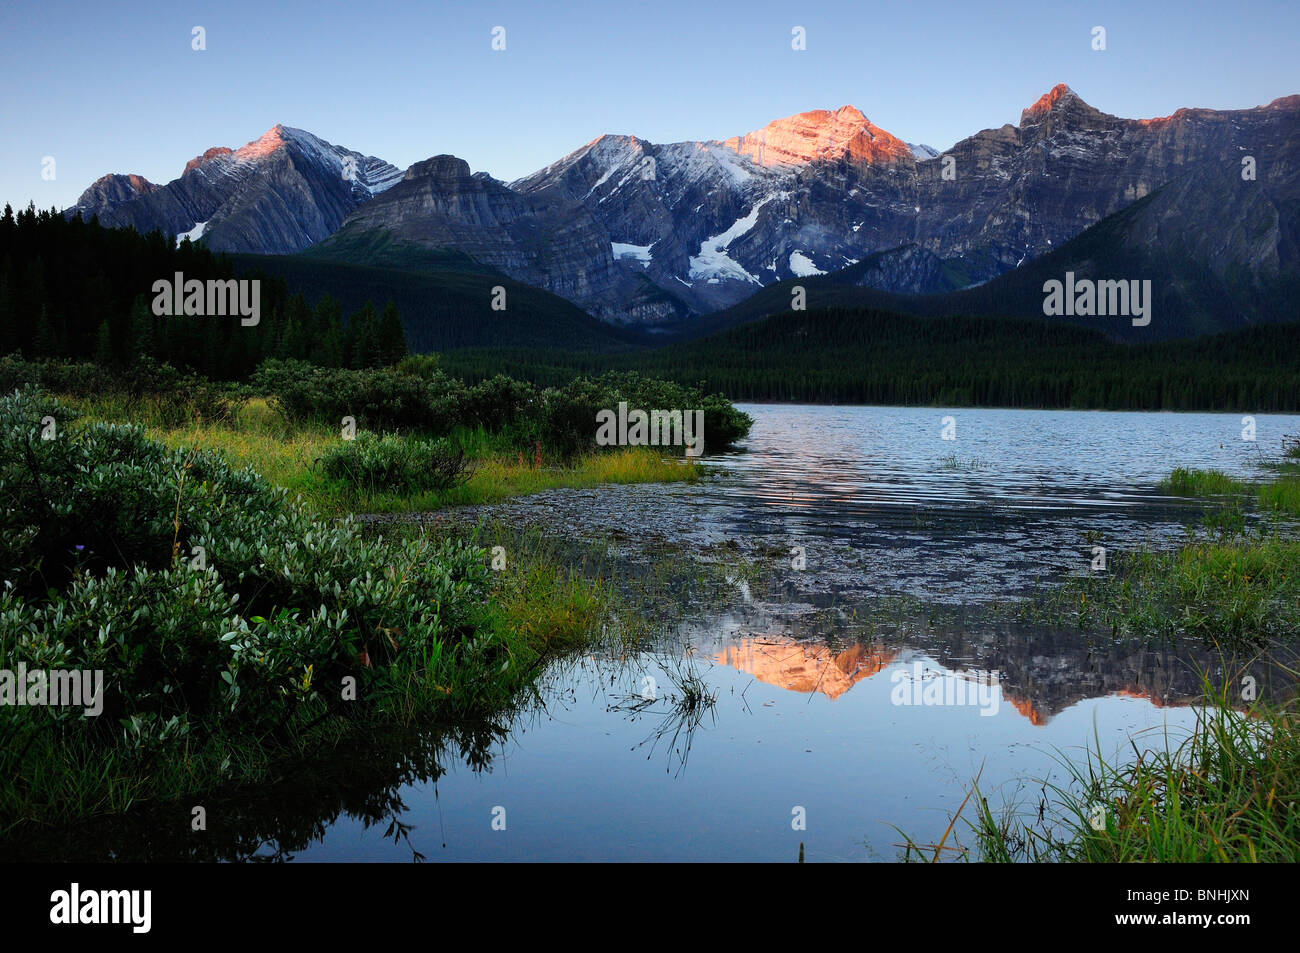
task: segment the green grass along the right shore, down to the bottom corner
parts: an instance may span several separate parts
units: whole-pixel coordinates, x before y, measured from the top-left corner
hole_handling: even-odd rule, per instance
[[[1277,658],[1294,658],[1300,641],[1300,540],[1286,519],[1300,514],[1300,467],[1270,467],[1274,480],[1258,484],[1216,471],[1175,469],[1161,488],[1213,501],[1205,517],[1210,533],[1174,551],[1113,554],[1105,576],[1070,580],[1024,603],[1023,612],[1057,623],[1072,618],[1080,628],[1110,637],[1195,637],[1221,651],[1251,649],[1295,675]],[[1225,503],[1225,497],[1234,499]],[[1262,519],[1248,530],[1240,504],[1252,498]],[[976,777],[937,844],[916,844],[905,835],[905,859],[1300,859],[1295,698],[1256,702],[1232,694],[1239,677],[1223,679],[1219,688],[1208,675],[1202,679],[1196,724],[1186,737],[1165,738],[1150,745],[1153,750],[1139,749],[1135,738],[1132,758],[1106,755],[1100,742],[1082,762],[1061,755],[1067,780],[1035,781],[1041,793],[1030,805],[994,810]],[[970,845],[954,836],[963,813]]]

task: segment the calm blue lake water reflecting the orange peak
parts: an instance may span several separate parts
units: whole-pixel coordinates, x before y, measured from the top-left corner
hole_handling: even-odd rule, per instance
[[[720,472],[696,486],[462,516],[612,540],[633,564],[725,547],[771,564],[763,592],[737,580],[725,605],[688,607],[671,647],[556,663],[542,707],[488,745],[446,741],[422,767],[281,798],[274,823],[248,820],[240,855],[793,861],[802,842],[809,861],[890,861],[894,828],[937,840],[976,774],[994,806],[1036,805],[1061,757],[1179,740],[1214,659],[966,624],[961,607],[1088,572],[1093,545],[1173,543],[1201,512],[1156,491],[1173,467],[1249,476],[1300,433],[1300,417],[1264,415],[1251,443],[1240,415],[744,410],[745,451],[710,458]],[[863,629],[861,612],[898,595],[949,611]],[[689,677],[716,696],[694,718],[675,705]]]

